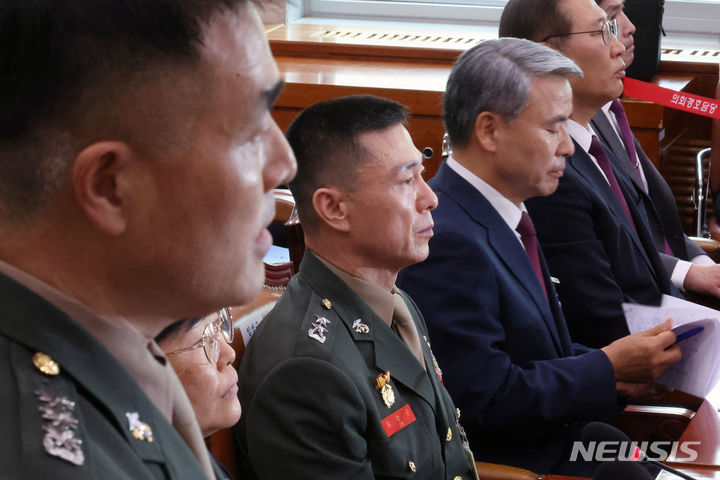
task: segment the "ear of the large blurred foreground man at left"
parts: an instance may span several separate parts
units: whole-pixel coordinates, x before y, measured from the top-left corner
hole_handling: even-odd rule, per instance
[[[130,155],[123,142],[97,142],[78,154],[72,169],[78,206],[98,229],[113,236],[122,234],[127,226],[118,175]]]

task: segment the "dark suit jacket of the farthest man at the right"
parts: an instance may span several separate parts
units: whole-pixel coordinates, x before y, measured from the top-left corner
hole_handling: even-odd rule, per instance
[[[678,213],[675,197],[670,190],[663,176],[658,172],[655,165],[642,149],[637,138],[633,137],[635,142],[635,150],[638,154],[640,165],[642,166],[645,179],[648,184],[648,191],[645,192],[642,180],[638,177],[630,155],[625,149],[625,145],[617,136],[610,121],[605,113],[600,110],[590,124],[598,137],[610,149],[623,171],[635,185],[640,197],[643,199],[645,208],[648,213],[648,221],[650,230],[655,241],[655,247],[659,252],[664,252],[664,239],[667,238],[668,244],[673,251],[673,256],[661,253],[660,258],[668,273],[672,273],[677,260],[689,261],[698,255],[705,255],[705,252],[698,247],[695,242],[690,240],[683,231],[680,214]]]

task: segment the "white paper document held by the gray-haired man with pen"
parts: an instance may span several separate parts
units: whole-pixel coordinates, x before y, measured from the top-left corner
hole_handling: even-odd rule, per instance
[[[682,360],[671,365],[659,383],[706,397],[720,380],[720,312],[680,298],[663,296],[659,307],[624,303],[630,333],[673,319]]]

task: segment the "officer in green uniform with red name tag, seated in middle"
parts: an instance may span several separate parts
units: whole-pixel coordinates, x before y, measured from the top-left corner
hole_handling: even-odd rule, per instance
[[[474,476],[425,323],[395,287],[427,256],[437,205],[406,116],[344,97],[287,131],[308,250],[240,363],[246,478]]]

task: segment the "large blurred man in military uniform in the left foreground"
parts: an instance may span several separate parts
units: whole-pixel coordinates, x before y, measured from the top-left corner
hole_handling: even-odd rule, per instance
[[[224,478],[152,339],[261,287],[295,163],[254,5],[7,0],[0,38],[0,476]]]

